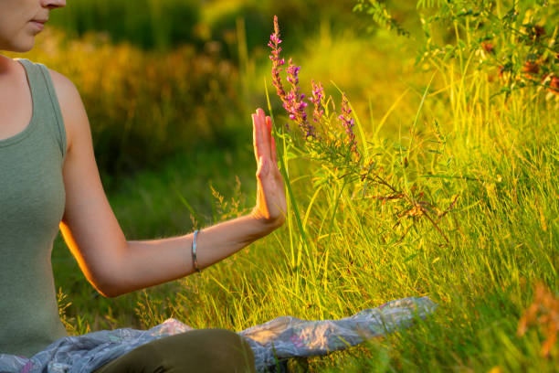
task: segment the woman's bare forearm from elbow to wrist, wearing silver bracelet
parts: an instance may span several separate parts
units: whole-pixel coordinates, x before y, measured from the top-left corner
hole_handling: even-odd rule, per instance
[[[198,268],[204,269],[248,246],[277,227],[247,215],[201,229],[196,238]],[[129,240],[102,293],[118,296],[173,281],[195,272],[192,258],[194,233],[162,240]]]

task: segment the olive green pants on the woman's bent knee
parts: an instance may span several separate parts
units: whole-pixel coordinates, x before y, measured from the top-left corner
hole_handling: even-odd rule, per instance
[[[248,343],[223,329],[165,336],[118,357],[94,373],[255,372]]]

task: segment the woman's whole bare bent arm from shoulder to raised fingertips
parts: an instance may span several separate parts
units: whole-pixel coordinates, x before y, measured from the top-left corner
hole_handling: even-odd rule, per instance
[[[103,295],[117,296],[169,282],[195,271],[194,235],[127,241],[100,183],[90,123],[76,87],[51,70],[64,119],[68,153],[63,166],[66,208],[60,230],[88,281]],[[200,268],[221,261],[284,221],[286,201],[278,170],[271,122],[258,109],[252,115],[258,163],[257,203],[251,213],[202,229],[197,236]]]

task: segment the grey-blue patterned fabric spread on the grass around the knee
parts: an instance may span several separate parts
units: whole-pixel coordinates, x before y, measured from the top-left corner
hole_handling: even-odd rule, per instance
[[[339,320],[309,321],[281,316],[238,334],[252,348],[257,371],[265,371],[277,360],[326,355],[374,336],[384,336],[411,325],[417,317],[425,318],[436,307],[427,297],[411,297]],[[168,319],[149,330],[122,328],[65,336],[31,358],[0,354],[0,372],[90,373],[135,347],[190,330],[193,328]]]

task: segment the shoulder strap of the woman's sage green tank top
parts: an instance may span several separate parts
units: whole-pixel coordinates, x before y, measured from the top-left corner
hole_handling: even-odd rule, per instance
[[[60,104],[58,103],[57,93],[50,77],[47,67],[41,63],[32,62],[28,59],[18,59],[26,69],[27,80],[31,89],[33,99],[33,117],[52,118],[50,121],[41,121],[47,123],[48,130],[58,143],[62,159],[66,156],[67,138]]]

